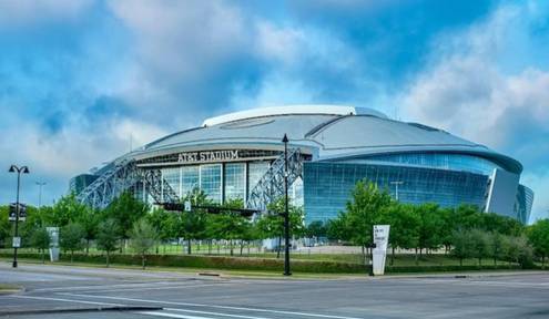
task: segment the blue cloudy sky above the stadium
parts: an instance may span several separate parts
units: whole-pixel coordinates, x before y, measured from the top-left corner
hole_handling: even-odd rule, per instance
[[[549,1],[0,0],[0,203],[205,117],[379,110],[519,160],[549,216]]]

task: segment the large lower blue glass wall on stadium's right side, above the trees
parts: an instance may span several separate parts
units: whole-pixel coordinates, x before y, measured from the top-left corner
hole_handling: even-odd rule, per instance
[[[482,207],[488,176],[481,174],[379,164],[304,163],[306,223],[337,217],[362,179],[376,183],[404,203],[437,203],[443,207],[467,203]]]

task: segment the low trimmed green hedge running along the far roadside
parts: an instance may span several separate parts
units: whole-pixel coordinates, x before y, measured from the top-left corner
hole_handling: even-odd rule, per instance
[[[0,254],[2,258],[11,257],[10,254]],[[40,254],[23,253],[19,254],[21,259],[41,260]],[[70,261],[69,254],[62,254],[60,260]],[[74,263],[104,265],[105,256],[75,254]],[[141,256],[129,254],[116,254],[111,256],[111,263],[114,265],[140,266]],[[282,271],[284,268],[283,259],[255,258],[255,257],[222,257],[222,256],[187,256],[187,255],[149,255],[146,265],[151,267],[180,267],[193,269],[218,269],[218,270],[254,270],[254,271]],[[537,269],[532,266],[529,269]],[[387,266],[387,274],[401,272],[435,272],[435,271],[471,271],[471,270],[504,270],[521,269],[516,264],[499,265],[420,265],[420,266]],[[309,274],[367,274],[364,265],[353,263],[337,261],[317,261],[317,260],[296,260],[292,261],[292,271]]]

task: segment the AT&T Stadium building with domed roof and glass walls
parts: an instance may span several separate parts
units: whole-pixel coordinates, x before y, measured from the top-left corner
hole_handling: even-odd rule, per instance
[[[70,189],[102,208],[124,191],[160,204],[199,187],[216,203],[242,198],[246,208],[263,210],[284,192],[284,134],[291,198],[303,206],[307,224],[337,216],[364,178],[403,203],[472,204],[528,222],[533,193],[519,183],[518,161],[443,130],[338,105],[207,119],[73,177]]]

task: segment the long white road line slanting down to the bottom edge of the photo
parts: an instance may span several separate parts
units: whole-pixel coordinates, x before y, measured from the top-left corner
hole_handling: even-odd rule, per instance
[[[175,301],[156,301],[156,300],[145,300],[145,299],[135,299],[135,298],[110,297],[110,296],[94,296],[94,295],[81,295],[81,294],[70,294],[70,292],[58,292],[58,295],[67,295],[67,296],[84,297],[84,298],[125,300],[125,301],[135,301],[135,302],[149,302],[149,303],[164,303],[164,305],[176,305],[176,306],[190,306],[190,307],[205,307],[205,308],[216,308],[216,309],[244,310],[244,311],[255,311],[255,312],[271,312],[271,313],[281,313],[281,315],[295,315],[295,316],[304,316],[304,317],[315,317],[315,318],[362,319],[362,318],[357,318],[357,317],[332,316],[332,315],[311,313],[311,312],[298,312],[298,311],[285,311],[285,310],[272,310],[272,309],[263,309],[263,308],[248,308],[248,307],[234,307],[234,306],[205,305],[205,303],[191,303],[191,302],[175,302]]]

